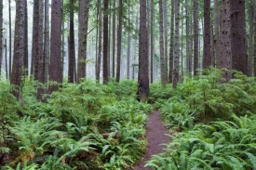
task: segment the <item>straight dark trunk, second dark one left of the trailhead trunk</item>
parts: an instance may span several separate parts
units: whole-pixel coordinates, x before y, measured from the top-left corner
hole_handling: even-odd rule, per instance
[[[104,17],[103,17],[103,84],[108,82],[108,0],[104,0]]]

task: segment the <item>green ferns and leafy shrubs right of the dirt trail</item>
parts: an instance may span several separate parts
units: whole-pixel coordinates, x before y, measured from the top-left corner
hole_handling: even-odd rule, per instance
[[[233,72],[209,69],[187,77],[160,111],[172,131],[166,152],[146,166],[154,169],[255,169],[256,82]],[[177,133],[179,132],[179,133]]]

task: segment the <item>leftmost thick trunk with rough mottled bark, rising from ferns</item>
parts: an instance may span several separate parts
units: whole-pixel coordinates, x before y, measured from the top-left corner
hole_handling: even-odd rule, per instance
[[[25,55],[25,0],[16,1],[16,21],[14,38],[14,55],[10,83],[18,87],[13,92],[16,98],[20,98],[20,83],[22,75],[22,59]]]

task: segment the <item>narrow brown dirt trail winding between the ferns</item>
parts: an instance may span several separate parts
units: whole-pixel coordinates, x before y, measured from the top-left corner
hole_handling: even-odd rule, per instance
[[[146,124],[146,138],[147,138],[147,148],[146,154],[140,163],[136,164],[134,170],[151,170],[152,168],[143,167],[147,161],[149,161],[152,155],[163,152],[165,146],[161,145],[163,143],[168,143],[170,137],[166,136],[168,134],[168,129],[160,120],[159,111],[154,111],[148,116]]]

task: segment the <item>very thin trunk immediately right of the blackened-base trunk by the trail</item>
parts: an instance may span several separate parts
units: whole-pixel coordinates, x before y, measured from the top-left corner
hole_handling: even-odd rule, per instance
[[[151,77],[151,83],[153,83],[154,82],[154,40],[155,40],[155,38],[154,38],[154,0],[151,0],[151,21],[150,21],[150,34],[151,34],[151,36],[150,36],[150,40],[151,40],[151,43],[150,43],[150,55],[151,55],[151,57],[150,57],[150,59],[151,59],[151,62],[150,62],[150,73],[151,73],[151,75],[150,75],[150,77]]]

